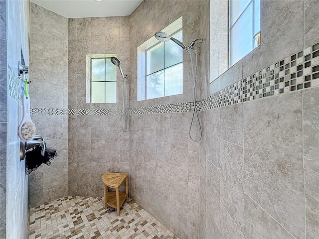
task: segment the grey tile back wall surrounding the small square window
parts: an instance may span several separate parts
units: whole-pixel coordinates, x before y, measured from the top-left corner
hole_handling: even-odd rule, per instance
[[[120,74],[116,104],[85,103],[85,55],[116,53],[128,72],[129,29],[128,16],[68,19],[68,195],[103,196],[104,172],[130,170]]]

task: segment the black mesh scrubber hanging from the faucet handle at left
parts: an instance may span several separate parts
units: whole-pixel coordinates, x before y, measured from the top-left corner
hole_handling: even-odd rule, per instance
[[[25,154],[25,167],[26,167],[26,174],[30,174],[32,171],[35,171],[38,169],[38,167],[45,163],[48,166],[51,165],[50,160],[54,159],[54,157],[57,157],[56,149],[45,147],[44,156],[42,156],[43,146],[37,145],[33,147],[31,150],[26,151]]]

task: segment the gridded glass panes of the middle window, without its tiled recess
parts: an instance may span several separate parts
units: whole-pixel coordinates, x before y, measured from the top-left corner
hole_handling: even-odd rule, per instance
[[[182,29],[171,34],[182,41]],[[182,48],[172,41],[159,42],[145,51],[146,99],[182,94]]]

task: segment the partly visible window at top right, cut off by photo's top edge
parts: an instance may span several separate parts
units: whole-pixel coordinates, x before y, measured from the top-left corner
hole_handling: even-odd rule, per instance
[[[260,45],[260,0],[229,1],[229,65]]]

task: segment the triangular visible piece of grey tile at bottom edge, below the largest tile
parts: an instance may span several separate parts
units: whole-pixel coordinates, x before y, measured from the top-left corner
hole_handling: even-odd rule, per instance
[[[294,239],[276,220],[245,194],[245,238]]]

